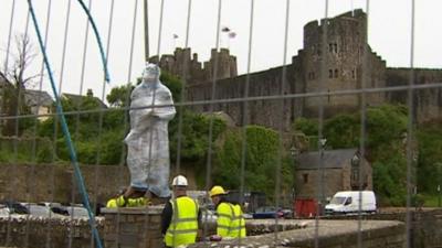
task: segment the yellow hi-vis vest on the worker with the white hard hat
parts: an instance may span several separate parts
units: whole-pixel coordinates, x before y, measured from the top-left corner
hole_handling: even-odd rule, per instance
[[[165,242],[169,247],[194,244],[198,233],[198,204],[188,196],[170,201],[172,219],[166,231]]]

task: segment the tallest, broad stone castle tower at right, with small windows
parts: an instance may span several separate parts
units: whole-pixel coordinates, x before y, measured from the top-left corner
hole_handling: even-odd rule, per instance
[[[323,43],[324,25],[327,30],[326,44]],[[362,82],[364,52],[367,48],[366,87],[385,85],[385,63],[372,54],[366,43],[367,15],[362,10],[355,10],[333,19],[323,19],[304,26],[304,53],[302,64],[305,78],[305,93],[317,93],[324,78],[323,90],[335,91],[358,89]],[[325,61],[324,61],[325,60]],[[323,68],[325,65],[325,68]],[[378,69],[379,67],[379,69]],[[376,69],[375,69],[376,68]],[[323,75],[322,77],[322,73]],[[379,74],[379,75],[377,75]],[[379,94],[378,94],[379,95]],[[373,104],[383,100],[382,96],[372,95],[368,99]],[[319,97],[306,98],[306,115],[317,112]],[[323,98],[332,114],[334,110],[358,108],[360,95],[339,95]]]

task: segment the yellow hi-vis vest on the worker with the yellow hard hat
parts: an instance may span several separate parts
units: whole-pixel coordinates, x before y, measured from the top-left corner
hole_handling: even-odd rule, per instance
[[[245,237],[245,220],[240,205],[220,203],[217,207],[217,234],[223,238]]]

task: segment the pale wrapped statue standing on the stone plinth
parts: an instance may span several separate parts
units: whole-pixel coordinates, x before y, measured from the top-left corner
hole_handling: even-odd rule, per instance
[[[125,138],[130,186],[170,196],[168,122],[176,114],[170,90],[159,80],[160,68],[147,64],[143,83],[130,95],[130,132]],[[154,104],[155,101],[155,104]],[[161,107],[169,105],[166,107]]]

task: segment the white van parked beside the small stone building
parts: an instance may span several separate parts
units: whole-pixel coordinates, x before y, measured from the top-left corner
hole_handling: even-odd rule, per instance
[[[361,201],[359,201],[361,196]],[[359,203],[361,204],[359,206]],[[340,191],[325,206],[326,214],[376,213],[376,197],[372,191]]]

